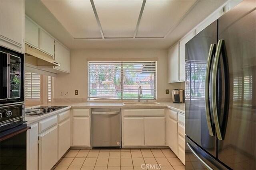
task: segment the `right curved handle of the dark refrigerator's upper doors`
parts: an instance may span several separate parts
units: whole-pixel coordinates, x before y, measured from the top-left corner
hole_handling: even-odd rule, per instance
[[[213,110],[213,118],[214,118],[214,124],[216,129],[216,134],[219,140],[224,140],[224,132],[221,132],[220,127],[220,119],[218,116],[218,108],[217,108],[217,75],[218,75],[218,64],[220,61],[220,54],[222,53],[224,64],[226,64],[224,67],[224,74],[225,74],[225,103],[224,103],[224,113],[225,119],[227,120],[228,117],[228,97],[229,97],[229,78],[228,78],[228,62],[226,59],[226,50],[224,48],[224,40],[221,39],[218,41],[217,49],[216,49],[216,55],[213,63],[213,71],[212,71],[212,110]]]

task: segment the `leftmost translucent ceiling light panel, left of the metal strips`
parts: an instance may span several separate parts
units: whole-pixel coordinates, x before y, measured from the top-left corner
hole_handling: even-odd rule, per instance
[[[90,0],[41,0],[74,38],[101,38]]]

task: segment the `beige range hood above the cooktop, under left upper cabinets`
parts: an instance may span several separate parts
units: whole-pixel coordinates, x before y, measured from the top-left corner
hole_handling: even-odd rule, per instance
[[[25,44],[25,61],[28,64],[37,66],[38,68],[53,68],[53,66],[60,66],[52,56]]]

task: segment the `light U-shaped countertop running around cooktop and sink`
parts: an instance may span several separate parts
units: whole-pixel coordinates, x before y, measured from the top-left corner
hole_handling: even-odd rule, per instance
[[[25,118],[27,124],[32,124],[42,119],[45,119],[49,116],[57,115],[60,112],[66,111],[71,108],[126,108],[126,109],[143,109],[143,108],[169,108],[180,113],[185,114],[185,104],[176,104],[172,102],[158,102],[162,105],[155,106],[124,106],[122,102],[54,102],[48,105],[40,105],[40,106],[68,106],[63,109],[56,110],[49,114],[41,115],[41,116],[27,116]],[[26,106],[26,109],[30,109],[35,106]]]

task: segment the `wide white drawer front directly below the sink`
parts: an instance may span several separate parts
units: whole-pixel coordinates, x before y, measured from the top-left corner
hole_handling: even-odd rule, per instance
[[[164,116],[164,109],[124,109],[125,117],[129,116]]]

